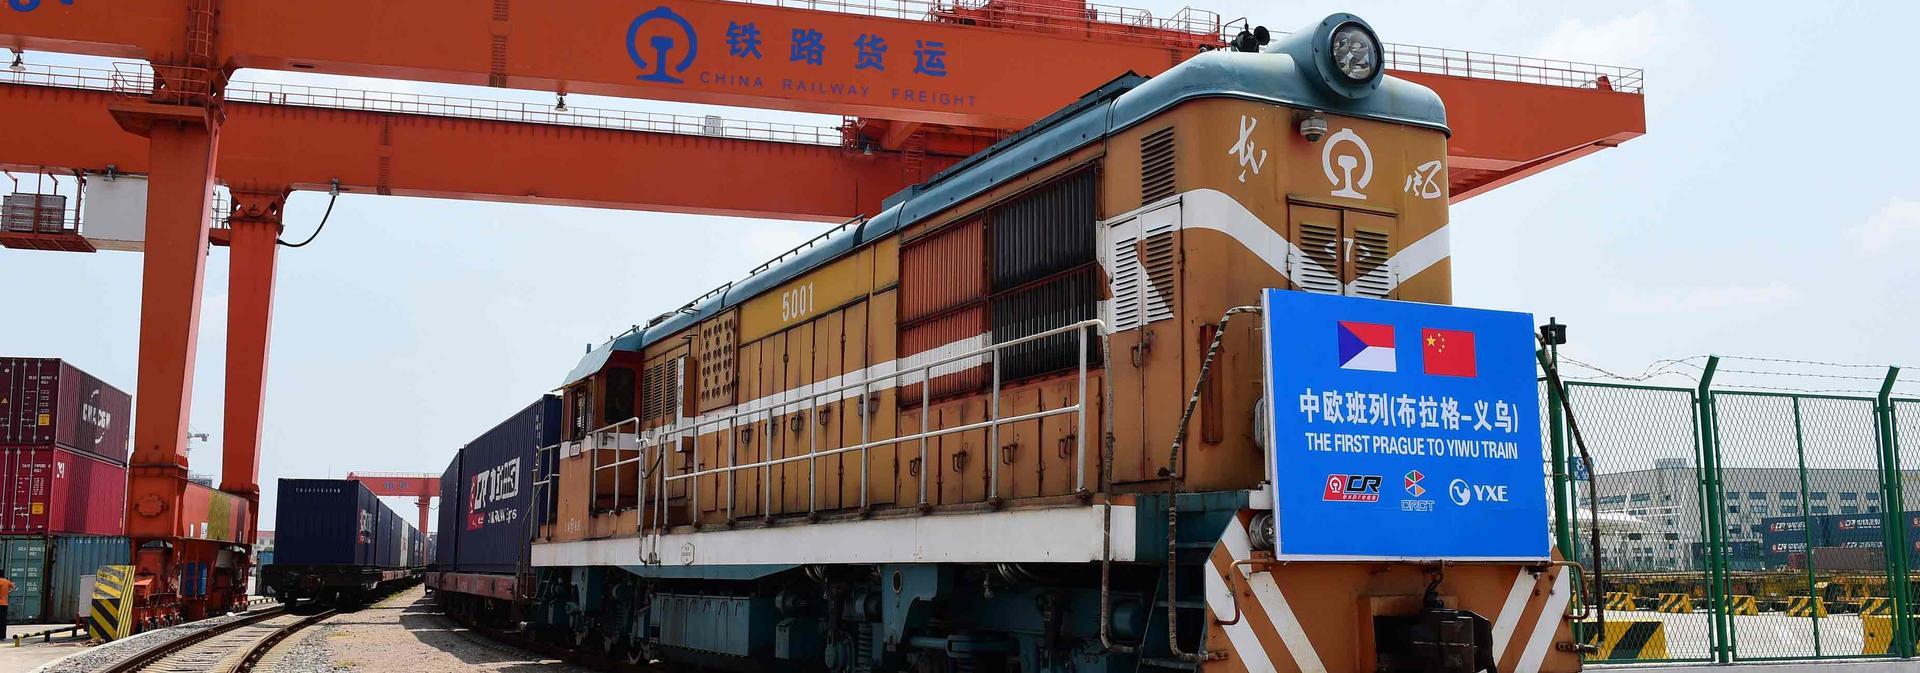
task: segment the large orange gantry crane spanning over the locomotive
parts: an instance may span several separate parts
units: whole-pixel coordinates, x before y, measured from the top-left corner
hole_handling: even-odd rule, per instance
[[[194,539],[179,516],[215,184],[234,196],[217,236],[232,255],[221,489],[257,502],[276,234],[292,190],[845,219],[1100,82],[1156,75],[1233,31],[1208,12],[1154,17],[1081,0],[17,0],[0,8],[0,46],[144,65],[0,73],[0,117],[35,121],[0,138],[0,167],[148,176],[129,497],[148,502],[129,514],[144,596],[227,545]],[[1413,46],[1386,58],[1448,102],[1453,201],[1645,130],[1634,69]],[[561,98],[541,111],[276,96],[230,86],[238,69]],[[810,140],[705,121],[685,132],[632,113],[559,115],[564,94],[851,117]],[[749,180],[755,194],[733,188]],[[42,234],[6,236],[35,247]],[[246,529],[250,543],[257,522]],[[230,608],[180,606],[180,617]]]

